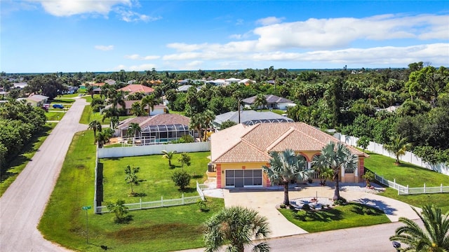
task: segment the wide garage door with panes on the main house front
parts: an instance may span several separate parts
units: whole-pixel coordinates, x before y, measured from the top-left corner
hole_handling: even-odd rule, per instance
[[[226,170],[226,186],[262,186],[262,169]]]

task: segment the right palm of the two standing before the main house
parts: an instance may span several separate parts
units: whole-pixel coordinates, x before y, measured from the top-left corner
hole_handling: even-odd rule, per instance
[[[340,198],[339,174],[341,169],[357,169],[358,157],[349,151],[346,145],[329,142],[321,149],[321,155],[315,156],[312,166],[328,167],[333,170],[335,190],[333,200]]]

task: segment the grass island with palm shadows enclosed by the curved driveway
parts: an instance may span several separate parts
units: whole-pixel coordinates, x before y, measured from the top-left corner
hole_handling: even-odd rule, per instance
[[[323,211],[295,211],[279,209],[288,221],[307,232],[321,232],[342,228],[354,228],[368,225],[389,223],[389,218],[383,211],[358,203],[349,203]]]

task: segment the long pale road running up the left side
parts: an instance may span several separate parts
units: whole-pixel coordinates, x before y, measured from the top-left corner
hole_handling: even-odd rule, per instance
[[[67,251],[43,239],[36,226],[46,207],[75,132],[85,99],[73,106],[0,198],[0,251]],[[55,227],[58,228],[58,227]]]

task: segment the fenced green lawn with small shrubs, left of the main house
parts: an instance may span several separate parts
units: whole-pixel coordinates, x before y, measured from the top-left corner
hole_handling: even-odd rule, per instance
[[[179,188],[171,180],[171,175],[176,170],[182,169],[177,161],[177,158],[181,155],[180,153],[173,156],[172,165],[175,165],[174,169],[170,169],[168,160],[162,158],[162,155],[100,160],[103,165],[103,195],[105,202],[124,199],[127,203],[137,203],[139,198],[142,198],[142,202],[150,202],[161,200],[161,196],[166,200],[178,199],[182,197],[182,193],[184,193],[185,197],[197,196],[196,181],[203,183],[207,179],[206,170],[208,162],[210,162],[207,157],[210,155],[210,152],[187,154],[192,158],[191,165],[189,167],[185,165],[183,169],[189,172],[193,179],[185,192],[179,191]],[[133,187],[134,192],[138,193],[139,197],[128,197],[130,185],[124,179],[124,169],[128,165],[130,167],[140,167],[140,172],[137,174],[140,182]]]

